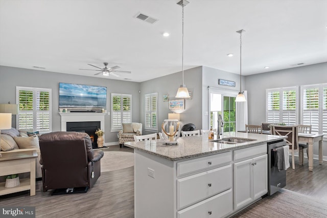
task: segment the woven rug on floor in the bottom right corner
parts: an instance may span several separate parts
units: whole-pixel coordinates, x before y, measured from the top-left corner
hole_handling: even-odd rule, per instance
[[[281,189],[232,217],[327,217],[327,202]]]

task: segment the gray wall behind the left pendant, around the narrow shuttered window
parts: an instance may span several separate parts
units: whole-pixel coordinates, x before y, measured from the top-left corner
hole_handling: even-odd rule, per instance
[[[168,102],[163,101],[163,95],[169,94],[169,100],[175,100],[177,89],[181,83],[181,72],[142,82],[140,104],[141,123],[144,124],[144,95],[158,92],[158,132],[161,132],[161,124],[164,122],[164,119],[168,119],[168,113],[172,113],[169,110]],[[184,84],[189,91],[193,92],[193,98],[191,100],[185,100],[185,111],[180,113],[180,121],[182,124],[193,123],[196,129],[202,129],[202,67],[184,70]],[[150,132],[145,133],[148,134]]]

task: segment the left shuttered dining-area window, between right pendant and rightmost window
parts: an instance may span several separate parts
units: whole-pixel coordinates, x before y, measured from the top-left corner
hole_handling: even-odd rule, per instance
[[[267,89],[266,122],[295,125],[298,120],[298,87]]]

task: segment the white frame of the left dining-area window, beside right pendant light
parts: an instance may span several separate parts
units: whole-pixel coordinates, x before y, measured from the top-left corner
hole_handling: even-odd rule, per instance
[[[290,110],[284,110],[284,92],[285,91],[295,91],[295,111],[293,111],[293,114],[295,112],[295,118],[293,118],[293,122],[289,123],[285,121],[285,118],[283,118],[283,113],[289,112]],[[269,123],[270,120],[268,120],[268,112],[271,110],[269,109],[268,105],[268,94],[270,92],[279,92],[279,110],[278,110],[278,123],[285,123],[286,125],[296,125],[298,124],[298,117],[299,117],[299,87],[298,86],[292,86],[292,87],[283,87],[283,88],[274,88],[274,89],[266,89],[266,122]],[[277,112],[277,111],[275,111]],[[294,115],[293,115],[294,116]],[[290,117],[290,116],[288,116]],[[290,119],[290,118],[288,118]],[[275,122],[272,122],[275,123]]]

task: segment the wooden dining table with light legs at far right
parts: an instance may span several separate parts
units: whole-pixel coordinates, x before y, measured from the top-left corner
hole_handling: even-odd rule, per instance
[[[319,164],[322,164],[322,139],[324,134],[306,134],[298,133],[298,140],[308,142],[308,153],[309,153],[309,171],[313,171],[313,144],[319,142]]]

